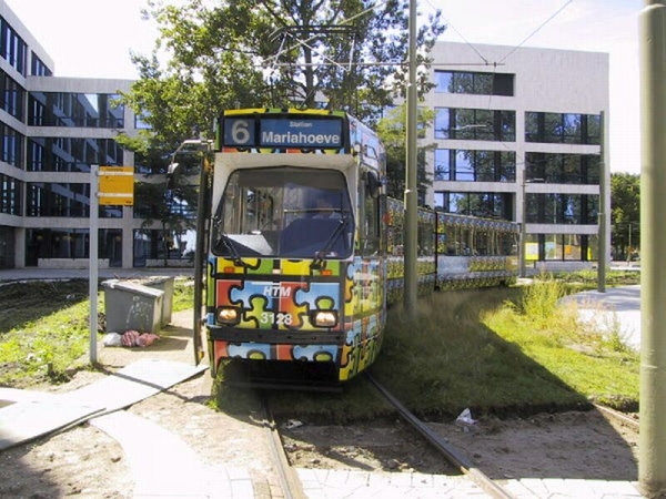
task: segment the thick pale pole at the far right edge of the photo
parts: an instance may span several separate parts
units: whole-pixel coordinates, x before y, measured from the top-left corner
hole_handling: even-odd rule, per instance
[[[645,0],[640,47],[640,435],[638,486],[666,493],[666,1]]]

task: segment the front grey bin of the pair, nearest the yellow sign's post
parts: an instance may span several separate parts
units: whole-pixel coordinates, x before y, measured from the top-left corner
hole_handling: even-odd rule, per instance
[[[107,332],[160,332],[164,292],[138,283],[104,281]]]

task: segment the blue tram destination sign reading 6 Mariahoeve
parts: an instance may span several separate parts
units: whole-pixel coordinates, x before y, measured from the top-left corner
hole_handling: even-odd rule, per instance
[[[232,147],[340,149],[343,120],[339,116],[266,115],[224,119],[224,145]]]

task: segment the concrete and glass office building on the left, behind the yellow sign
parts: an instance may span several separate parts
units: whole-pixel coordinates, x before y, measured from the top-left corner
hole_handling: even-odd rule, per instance
[[[115,141],[145,128],[118,101],[132,81],[60,78],[53,68],[0,0],[0,268],[88,267],[92,165],[137,165],[137,189],[163,189],[168,157],[134,161]],[[99,207],[100,267],[192,265],[191,231],[164,231],[153,208]]]

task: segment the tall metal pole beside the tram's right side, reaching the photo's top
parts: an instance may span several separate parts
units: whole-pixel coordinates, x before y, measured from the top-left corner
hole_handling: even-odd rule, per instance
[[[416,0],[410,0],[410,80],[407,86],[407,138],[405,167],[405,309],[416,312],[418,276],[416,274],[416,238],[418,217],[416,184]]]

